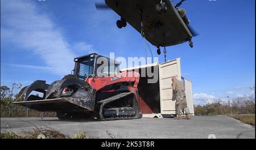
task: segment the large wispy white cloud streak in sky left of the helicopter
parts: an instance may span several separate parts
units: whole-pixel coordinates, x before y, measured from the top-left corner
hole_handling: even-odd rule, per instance
[[[1,1],[1,39],[38,55],[38,60],[46,64],[46,67],[20,67],[47,68],[60,76],[73,69],[75,54],[71,46],[47,14],[40,12],[32,1]],[[83,43],[80,46],[92,48]]]

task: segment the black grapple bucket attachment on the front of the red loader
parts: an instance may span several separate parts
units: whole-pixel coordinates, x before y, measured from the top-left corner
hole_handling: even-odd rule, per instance
[[[40,86],[44,88],[33,88]],[[32,89],[39,92],[44,89],[43,98],[28,96],[27,93]],[[22,95],[25,95],[24,101],[20,101]],[[90,112],[94,110],[95,95],[96,91],[90,88],[87,82],[77,79],[74,75],[69,75],[51,85],[43,86],[42,82],[36,81],[30,86],[24,87],[19,93],[21,98],[18,98],[14,104],[42,112]]]

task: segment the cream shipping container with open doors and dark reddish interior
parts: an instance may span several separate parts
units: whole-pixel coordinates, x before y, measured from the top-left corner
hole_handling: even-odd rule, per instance
[[[137,71],[141,74],[138,92],[139,108],[143,117],[162,117],[177,114],[176,98],[172,95],[172,77],[183,80],[188,109],[194,115],[191,81],[181,76],[180,58],[164,63],[122,68],[121,71]],[[147,74],[147,72],[152,72]],[[154,76],[152,76],[154,74]],[[145,76],[146,75],[146,76]],[[152,78],[157,82],[149,83]]]

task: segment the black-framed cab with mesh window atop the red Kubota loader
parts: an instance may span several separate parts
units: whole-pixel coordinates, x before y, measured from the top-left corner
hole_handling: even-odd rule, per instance
[[[119,73],[118,62],[96,53],[77,57],[74,61],[74,74],[81,80],[88,76],[105,77]]]

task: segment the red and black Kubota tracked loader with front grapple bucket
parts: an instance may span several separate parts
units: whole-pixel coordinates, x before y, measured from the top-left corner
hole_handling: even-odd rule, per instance
[[[138,72],[119,72],[119,63],[96,53],[74,59],[72,75],[52,84],[36,80],[20,90],[14,104],[41,112],[56,112],[59,119],[137,119]],[[40,93],[36,94],[35,93]]]

